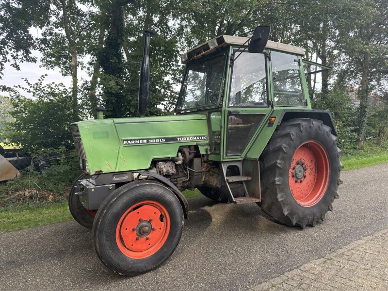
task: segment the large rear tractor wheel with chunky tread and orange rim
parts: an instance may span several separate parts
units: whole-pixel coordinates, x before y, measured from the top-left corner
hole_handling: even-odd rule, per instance
[[[259,206],[286,226],[315,226],[338,198],[340,149],[331,128],[316,119],[283,122],[260,158]]]

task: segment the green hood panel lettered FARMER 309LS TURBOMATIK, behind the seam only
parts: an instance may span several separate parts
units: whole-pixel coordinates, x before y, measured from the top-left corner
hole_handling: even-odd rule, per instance
[[[115,120],[120,142],[117,171],[148,169],[151,161],[175,157],[179,146],[209,144],[205,114]]]

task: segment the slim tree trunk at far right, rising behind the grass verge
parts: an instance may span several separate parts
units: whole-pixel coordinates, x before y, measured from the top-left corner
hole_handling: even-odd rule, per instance
[[[368,121],[368,96],[369,96],[369,52],[364,53],[362,60],[362,75],[361,75],[361,92],[358,97],[360,98],[360,108],[358,112],[358,147],[363,146],[365,134],[367,130]]]

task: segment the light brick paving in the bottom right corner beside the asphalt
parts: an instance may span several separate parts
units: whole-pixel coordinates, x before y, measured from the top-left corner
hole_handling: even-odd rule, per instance
[[[250,290],[387,291],[388,228]]]

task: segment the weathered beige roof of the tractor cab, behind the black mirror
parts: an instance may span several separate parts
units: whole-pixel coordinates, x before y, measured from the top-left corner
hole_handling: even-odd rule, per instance
[[[247,46],[248,39],[249,37],[232,36],[232,35],[217,36],[215,38],[208,40],[203,44],[200,44],[199,46],[196,46],[194,49],[190,49],[187,53],[182,54],[181,55],[182,64],[187,64],[190,61],[200,58],[201,56],[208,54],[217,48],[224,47],[227,45],[242,46],[244,43],[246,43],[245,45]],[[272,40],[269,40],[267,42],[267,45],[265,46],[265,48],[290,52],[301,56],[305,55],[304,50],[300,47],[286,45]]]

